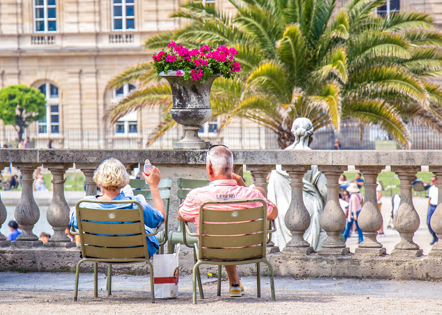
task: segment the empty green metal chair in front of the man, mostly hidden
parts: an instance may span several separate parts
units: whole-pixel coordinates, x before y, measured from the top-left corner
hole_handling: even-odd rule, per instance
[[[181,205],[186,199],[187,194],[193,188],[204,187],[210,183],[209,180],[191,180],[186,178],[179,178],[177,180],[178,184],[178,200]],[[178,227],[176,231],[170,231],[167,242],[167,253],[172,254],[175,251],[175,245],[178,243],[184,244],[187,247],[193,248],[193,244],[196,243],[196,237],[188,236],[185,240],[183,238],[183,230],[181,229],[181,223],[178,222]],[[195,260],[196,262],[196,260]]]

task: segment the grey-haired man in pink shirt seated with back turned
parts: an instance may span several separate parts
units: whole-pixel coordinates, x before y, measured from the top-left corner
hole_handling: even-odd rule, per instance
[[[206,158],[206,171],[210,184],[195,188],[186,197],[178,210],[178,219],[184,222],[194,222],[196,228],[199,223],[199,206],[208,200],[240,200],[261,198],[267,202],[267,219],[274,220],[278,215],[276,206],[264,198],[262,188],[247,187],[241,176],[233,174],[233,155],[224,145],[215,145],[209,148]],[[256,207],[259,204],[256,205]],[[249,204],[249,207],[255,207]],[[236,265],[226,265],[225,270],[229,277],[229,296],[240,297],[244,294]]]

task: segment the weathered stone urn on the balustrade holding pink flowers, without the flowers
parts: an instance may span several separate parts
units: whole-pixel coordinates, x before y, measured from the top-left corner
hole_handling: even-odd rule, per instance
[[[210,89],[215,79],[221,75],[209,77],[207,81],[185,80],[177,76],[176,71],[160,72],[159,76],[166,79],[172,89],[173,120],[184,126],[184,137],[173,143],[174,149],[207,149],[208,141],[198,137],[199,125],[207,122],[212,116],[210,108]]]

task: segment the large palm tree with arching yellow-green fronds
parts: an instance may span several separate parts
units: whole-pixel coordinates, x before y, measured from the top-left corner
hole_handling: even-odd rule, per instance
[[[342,119],[363,126],[378,124],[410,148],[407,123],[442,133],[442,90],[429,79],[442,75],[442,34],[433,19],[418,12],[377,16],[383,0],[351,0],[335,9],[335,0],[229,0],[234,15],[189,1],[170,15],[190,22],[175,31],[149,37],[150,50],[172,39],[194,48],[235,47],[242,71],[236,79],[218,79],[212,88],[213,116],[221,128],[234,117],[247,118],[277,134],[281,148],[294,140],[290,127],[298,116],[315,129]],[[111,123],[141,107],[161,105],[163,120],[152,143],[174,126],[168,83],[151,65],[126,69],[109,85],[138,81],[138,89],[108,113]],[[362,131],[362,129],[361,129]]]

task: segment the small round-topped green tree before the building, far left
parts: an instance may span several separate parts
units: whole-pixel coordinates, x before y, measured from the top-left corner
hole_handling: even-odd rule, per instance
[[[40,90],[26,85],[10,85],[0,90],[0,119],[14,126],[21,139],[33,121],[46,115],[46,100]]]

